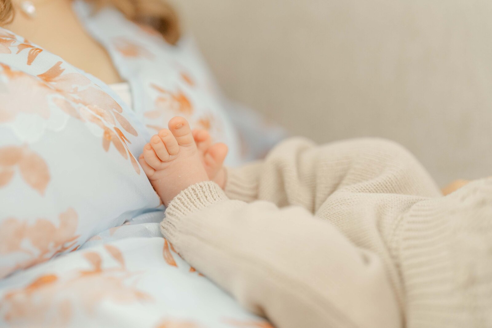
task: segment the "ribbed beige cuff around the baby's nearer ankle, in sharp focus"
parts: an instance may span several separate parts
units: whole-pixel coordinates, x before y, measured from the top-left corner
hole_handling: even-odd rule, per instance
[[[213,181],[193,184],[180,192],[169,203],[161,222],[161,232],[166,239],[173,239],[180,230],[180,221],[186,216],[212,204],[227,200],[224,191]]]

